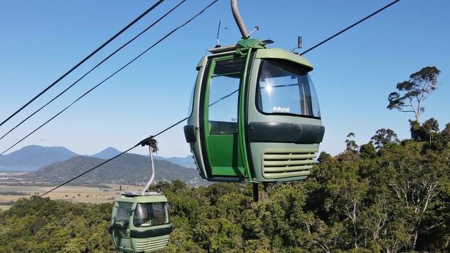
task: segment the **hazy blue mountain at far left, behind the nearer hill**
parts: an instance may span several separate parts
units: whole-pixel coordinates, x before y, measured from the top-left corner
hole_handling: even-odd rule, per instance
[[[30,145],[8,155],[0,156],[1,167],[43,167],[78,156],[65,147]]]

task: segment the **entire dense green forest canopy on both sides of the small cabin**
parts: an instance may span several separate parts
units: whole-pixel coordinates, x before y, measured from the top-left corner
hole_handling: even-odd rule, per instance
[[[387,129],[378,149],[350,140],[305,182],[260,185],[258,203],[251,185],[159,182],[174,225],[163,252],[449,252],[450,124],[433,126],[433,145]],[[114,252],[110,212],[39,198],[0,221],[0,252]]]

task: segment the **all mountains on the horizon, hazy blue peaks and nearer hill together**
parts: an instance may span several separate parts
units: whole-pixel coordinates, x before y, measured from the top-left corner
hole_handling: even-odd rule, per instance
[[[117,156],[120,151],[108,147],[92,156],[80,156],[65,147],[27,146],[6,156],[0,156],[0,170],[24,170],[30,173],[17,178],[37,182],[62,182],[82,174],[105,160]],[[177,164],[180,163],[181,165]],[[191,156],[187,158],[163,158],[155,156],[155,180],[183,180],[190,185],[203,185],[197,169],[193,167]],[[183,167],[182,165],[191,165]],[[149,157],[125,153],[98,167],[86,176],[78,178],[75,184],[119,183],[129,185],[145,184],[150,179]]]

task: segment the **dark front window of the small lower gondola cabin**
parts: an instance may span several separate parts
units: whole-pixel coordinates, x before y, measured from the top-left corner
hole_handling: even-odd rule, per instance
[[[160,203],[138,203],[134,210],[134,227],[150,227],[168,224],[169,209],[165,202]]]

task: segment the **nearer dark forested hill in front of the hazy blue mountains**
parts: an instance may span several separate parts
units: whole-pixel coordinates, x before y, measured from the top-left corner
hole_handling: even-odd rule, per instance
[[[30,172],[21,178],[30,180],[48,180],[51,182],[62,182],[81,174],[105,160],[87,156],[76,156],[63,162],[55,162],[52,165],[42,167],[37,171]],[[155,180],[177,180],[181,179],[190,185],[204,185],[206,181],[201,180],[196,169],[190,169],[175,165],[165,160],[155,160]],[[102,165],[86,176],[77,179],[80,183],[122,183],[132,185],[145,185],[150,180],[149,158],[132,153]]]

